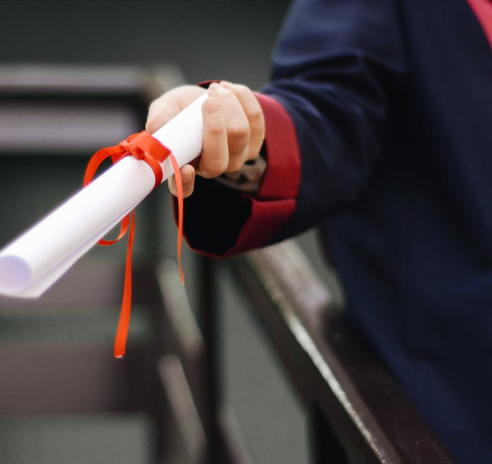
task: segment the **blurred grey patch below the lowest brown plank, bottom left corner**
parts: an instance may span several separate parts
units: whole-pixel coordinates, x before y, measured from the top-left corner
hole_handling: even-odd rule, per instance
[[[2,464],[154,464],[144,414],[0,417]]]

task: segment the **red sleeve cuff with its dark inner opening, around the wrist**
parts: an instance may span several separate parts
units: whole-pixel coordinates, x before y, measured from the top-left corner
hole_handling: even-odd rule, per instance
[[[296,207],[301,162],[294,124],[274,98],[255,96],[266,124],[267,167],[259,192],[247,195],[198,178],[195,192],[185,200],[186,241],[193,250],[213,257],[268,245]]]

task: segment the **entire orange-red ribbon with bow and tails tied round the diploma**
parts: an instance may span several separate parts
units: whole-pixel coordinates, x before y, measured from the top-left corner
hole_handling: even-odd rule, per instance
[[[178,262],[179,273],[181,276],[181,282],[184,283],[183,267],[181,266],[181,245],[183,243],[183,183],[181,181],[181,172],[179,171],[179,165],[176,158],[171,153],[169,148],[165,147],[151,136],[147,131],[141,131],[138,134],[133,134],[127,138],[127,140],[121,141],[118,145],[102,148],[96,152],[86,168],[84,176],[84,187],[91,183],[93,176],[96,174],[98,167],[108,157],[111,157],[112,162],[115,163],[122,159],[122,157],[133,155],[138,160],[146,162],[153,170],[155,175],[154,188],[160,185],[162,182],[162,168],[160,163],[167,157],[171,160],[172,167],[174,169],[174,176],[176,177],[176,186],[178,190]],[[98,241],[99,245],[110,246],[117,243],[124,234],[127,233],[130,228],[128,236],[127,246],[127,262],[125,265],[124,276],[124,290],[123,290],[123,302],[122,309],[119,313],[118,328],[115,338],[115,358],[122,358],[124,356],[125,347],[127,345],[128,329],[130,326],[131,315],[131,252],[134,244],[135,235],[135,212],[127,214],[122,219],[119,227],[119,234],[115,240],[101,240]]]

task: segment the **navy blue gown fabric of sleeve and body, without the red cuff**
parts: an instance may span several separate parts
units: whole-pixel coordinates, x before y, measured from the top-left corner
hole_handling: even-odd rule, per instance
[[[465,0],[301,0],[264,89],[348,314],[459,463],[492,463],[492,51]]]

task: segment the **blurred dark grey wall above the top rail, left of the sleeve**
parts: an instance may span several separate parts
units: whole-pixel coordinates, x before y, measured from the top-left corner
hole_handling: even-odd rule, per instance
[[[0,64],[174,63],[188,82],[257,88],[289,3],[2,1]]]

